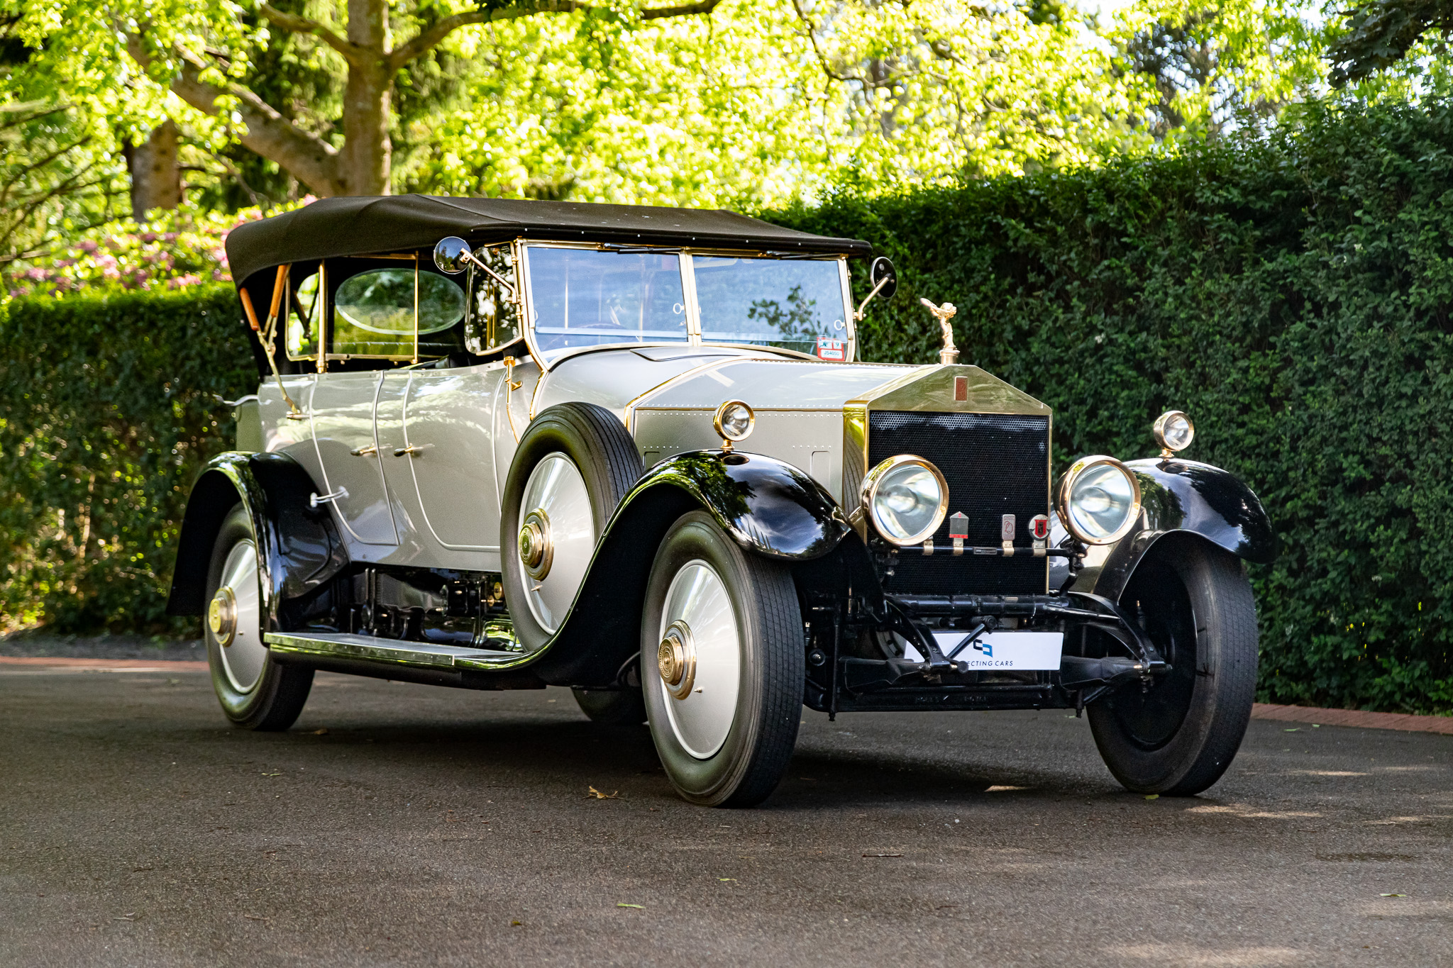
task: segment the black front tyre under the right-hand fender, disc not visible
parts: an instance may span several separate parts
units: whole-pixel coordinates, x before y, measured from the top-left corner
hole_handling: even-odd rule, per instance
[[[1257,612],[1229,553],[1162,538],[1120,604],[1138,614],[1173,670],[1090,707],[1090,730],[1114,778],[1139,794],[1190,797],[1226,772],[1251,721]]]

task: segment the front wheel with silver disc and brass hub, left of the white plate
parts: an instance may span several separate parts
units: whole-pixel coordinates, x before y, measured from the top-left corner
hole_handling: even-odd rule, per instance
[[[677,791],[712,807],[766,800],[796,746],[804,675],[788,567],[742,551],[705,511],[677,520],[641,620],[651,737]]]

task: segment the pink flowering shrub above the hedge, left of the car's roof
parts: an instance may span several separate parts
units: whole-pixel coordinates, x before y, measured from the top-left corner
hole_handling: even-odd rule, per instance
[[[308,196],[269,215],[312,200]],[[230,282],[228,232],[263,218],[257,208],[231,215],[186,209],[154,215],[145,225],[112,222],[84,232],[70,245],[12,263],[0,273],[0,292],[10,298],[62,296],[96,289],[173,290]]]

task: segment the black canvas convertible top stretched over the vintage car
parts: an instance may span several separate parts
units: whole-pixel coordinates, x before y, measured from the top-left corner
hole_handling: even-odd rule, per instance
[[[433,248],[446,235],[461,235],[472,245],[535,237],[872,254],[867,242],[798,232],[725,209],[391,194],[320,199],[238,225],[227,237],[227,260],[241,284],[253,273],[283,263]]]

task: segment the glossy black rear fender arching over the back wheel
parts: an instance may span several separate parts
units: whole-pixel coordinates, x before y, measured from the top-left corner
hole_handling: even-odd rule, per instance
[[[169,615],[201,615],[212,544],[228,512],[247,508],[257,538],[257,565],[269,630],[288,624],[288,601],[317,591],[347,566],[347,550],[327,508],[312,508],[312,477],[288,454],[218,454],[206,463],[187,498]]]

